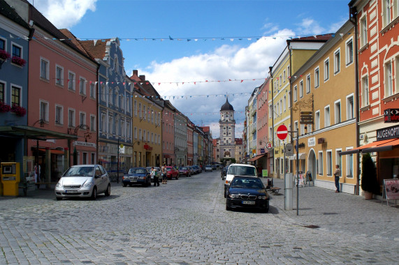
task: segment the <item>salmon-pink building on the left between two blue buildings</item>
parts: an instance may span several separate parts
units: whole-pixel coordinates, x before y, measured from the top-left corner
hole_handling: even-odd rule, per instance
[[[29,43],[28,156],[41,165],[41,182],[56,183],[73,164],[96,162],[98,64],[77,47],[75,36],[58,30],[29,5],[34,35]],[[43,139],[43,140],[41,140]]]

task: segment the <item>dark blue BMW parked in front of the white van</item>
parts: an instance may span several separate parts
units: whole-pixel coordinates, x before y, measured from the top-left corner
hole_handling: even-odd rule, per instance
[[[235,176],[226,191],[226,210],[238,208],[259,209],[268,213],[269,196],[261,179]]]

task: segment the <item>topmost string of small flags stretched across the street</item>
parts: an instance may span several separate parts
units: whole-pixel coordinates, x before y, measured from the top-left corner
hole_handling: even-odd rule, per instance
[[[354,34],[353,32],[349,32],[347,33],[348,35]],[[198,41],[215,41],[215,40],[228,40],[228,41],[235,41],[235,40],[248,40],[248,41],[252,41],[252,40],[268,40],[268,39],[300,39],[300,38],[317,38],[318,36],[324,36],[324,35],[330,35],[329,33],[327,34],[321,34],[321,35],[279,35],[279,36],[222,36],[222,37],[183,37],[183,38],[176,38],[176,37],[172,37],[172,36],[168,36],[166,38],[147,38],[147,37],[143,37],[143,38],[136,38],[136,37],[131,37],[131,38],[118,38],[118,40],[122,40],[122,41],[161,41],[163,42],[164,40],[169,40],[169,41],[185,41],[185,42],[198,42]],[[331,34],[333,37],[335,36],[335,34]],[[340,33],[340,36],[342,37],[344,34]],[[0,35],[1,36],[1,35]],[[3,38],[6,38],[5,36],[1,36]],[[59,40],[59,41],[64,41],[64,40],[92,40],[94,45],[96,45],[97,42],[106,42],[108,40],[110,40],[110,38],[48,38],[48,37],[42,37],[39,38],[37,36],[33,36],[31,38],[29,38],[28,36],[23,36],[23,37],[19,37],[19,36],[13,36],[13,34],[10,33],[10,38],[15,38],[15,39],[24,39],[24,40],[35,40],[35,39],[45,39],[45,40]]]

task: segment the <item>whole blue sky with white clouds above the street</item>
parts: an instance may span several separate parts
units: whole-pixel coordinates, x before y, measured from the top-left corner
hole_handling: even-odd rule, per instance
[[[162,98],[219,137],[220,108],[245,106],[289,38],[335,33],[349,0],[29,0],[81,40],[119,38],[126,75],[145,75]]]

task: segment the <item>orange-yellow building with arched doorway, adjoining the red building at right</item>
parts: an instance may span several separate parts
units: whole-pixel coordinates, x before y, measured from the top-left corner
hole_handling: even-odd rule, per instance
[[[340,156],[341,151],[356,147],[353,24],[345,23],[294,72],[291,82],[293,130],[299,130],[299,171],[309,171],[314,185],[335,190],[333,174],[339,165],[340,190],[354,193],[356,159],[353,154]],[[303,123],[301,112],[302,120],[310,114],[313,123]],[[296,156],[290,161],[296,161]],[[296,174],[296,162],[293,172]]]

